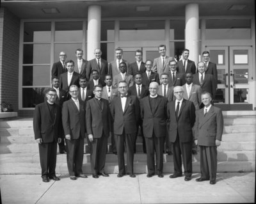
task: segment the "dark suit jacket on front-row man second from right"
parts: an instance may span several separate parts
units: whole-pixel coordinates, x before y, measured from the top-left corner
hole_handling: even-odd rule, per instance
[[[174,143],[179,134],[179,140],[182,143],[193,141],[192,128],[195,123],[195,106],[193,102],[183,99],[180,106],[179,117],[175,114],[175,100],[167,104],[167,116],[170,120],[169,139]]]

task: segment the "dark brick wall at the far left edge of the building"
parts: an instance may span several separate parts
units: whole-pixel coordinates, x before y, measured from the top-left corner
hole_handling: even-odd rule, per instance
[[[19,36],[20,19],[0,8],[0,102],[19,107]]]

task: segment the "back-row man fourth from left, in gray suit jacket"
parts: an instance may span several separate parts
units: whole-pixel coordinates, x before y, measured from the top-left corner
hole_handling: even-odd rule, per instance
[[[123,59],[123,50],[121,47],[117,47],[115,49],[116,59],[109,63],[109,71],[108,74],[111,75],[113,78],[115,75],[120,74],[119,65],[120,63],[125,63],[126,67],[129,67],[129,62]]]

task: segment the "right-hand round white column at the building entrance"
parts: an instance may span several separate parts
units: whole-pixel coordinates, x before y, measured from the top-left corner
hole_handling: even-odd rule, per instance
[[[189,49],[189,59],[198,63],[199,56],[199,8],[198,4],[186,5],[185,47]]]

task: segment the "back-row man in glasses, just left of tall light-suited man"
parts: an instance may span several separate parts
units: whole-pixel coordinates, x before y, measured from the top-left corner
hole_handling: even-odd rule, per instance
[[[142,61],[142,51],[135,51],[135,59],[133,63],[131,63],[128,67],[128,74],[135,75],[136,73],[144,73],[146,71],[145,63]]]

